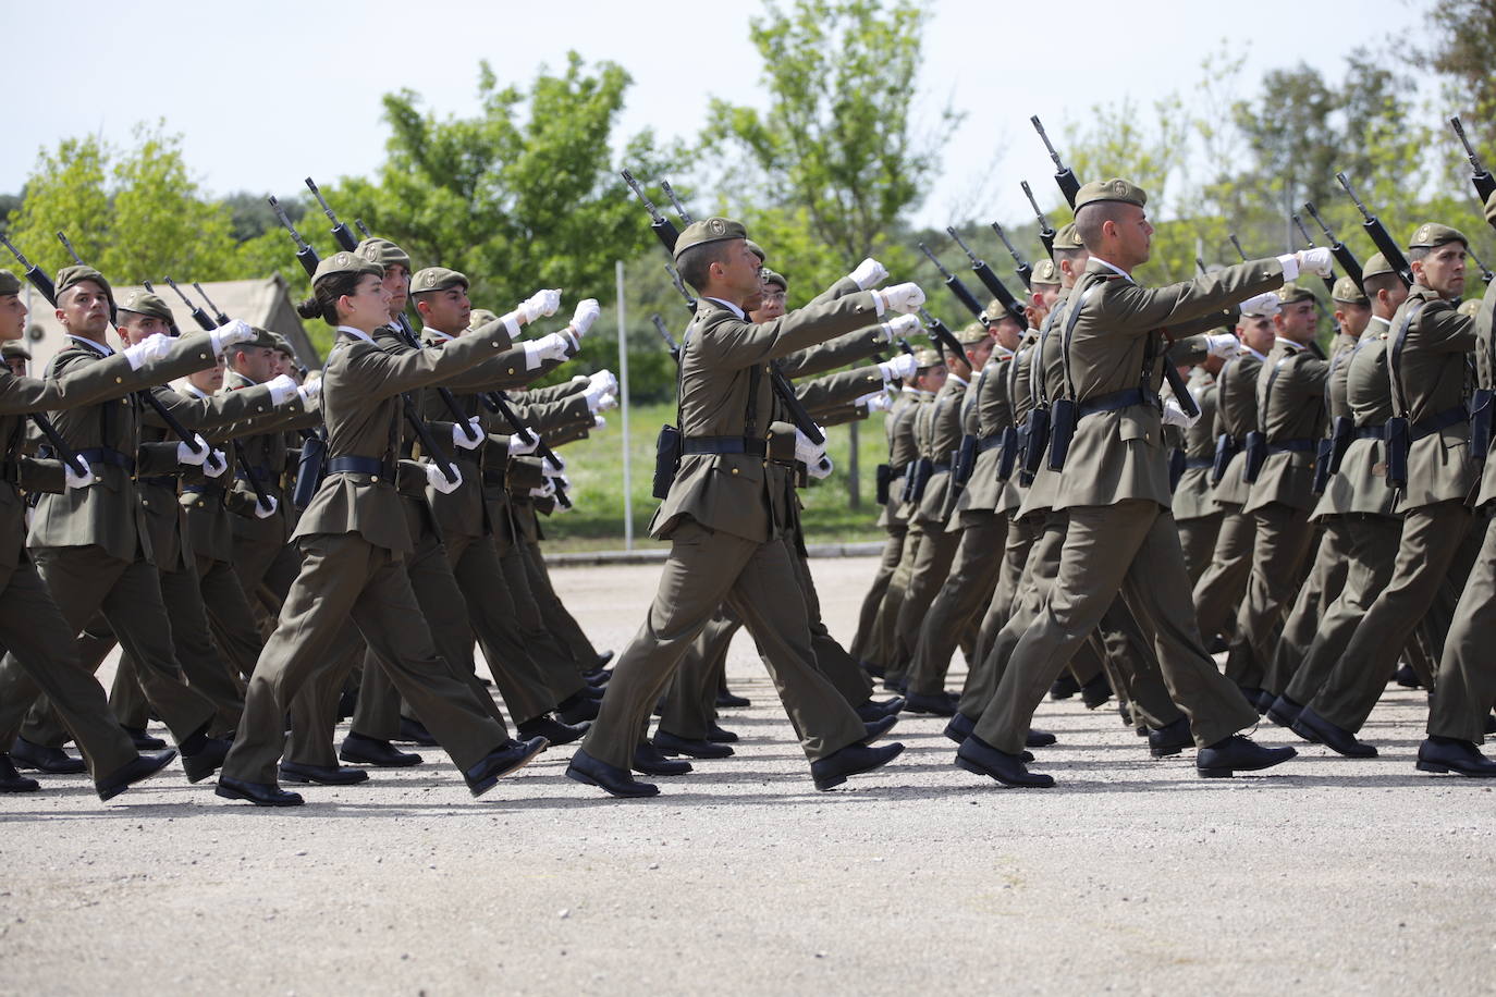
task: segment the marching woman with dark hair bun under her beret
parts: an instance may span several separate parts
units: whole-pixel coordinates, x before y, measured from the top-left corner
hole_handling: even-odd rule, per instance
[[[389,320],[384,268],[353,253],[317,266],[305,317],[322,315],[338,330],[323,371],[322,410],[328,462],[322,487],[296,528],[302,568],[281,608],[280,623],[250,677],[244,719],[218,777],[217,794],[257,806],[298,806],[301,797],[277,785],[286,710],[326,659],[352,619],[389,667],[399,692],[417,710],[462,771],[474,795],[545,749],[543,738],[509,738],[473,692],[437,658],[402,559],[410,532],[395,492],[401,392],[471,368],[510,345],[503,323],[464,336],[443,350],[395,356],[374,344]],[[525,302],[518,321],[555,311],[557,291]],[[431,466],[429,478],[443,475]],[[435,483],[435,481],[432,481]]]

